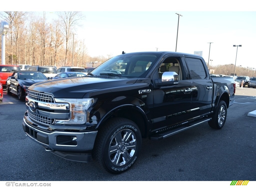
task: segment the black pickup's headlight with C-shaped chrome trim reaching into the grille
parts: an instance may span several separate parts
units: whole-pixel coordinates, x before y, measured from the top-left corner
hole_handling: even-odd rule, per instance
[[[87,110],[94,103],[94,99],[56,99],[57,102],[67,102],[70,105],[70,119],[56,120],[57,124],[84,124],[87,119]]]

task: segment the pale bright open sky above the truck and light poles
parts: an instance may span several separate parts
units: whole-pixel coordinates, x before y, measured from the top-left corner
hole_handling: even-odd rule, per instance
[[[122,51],[175,51],[177,40],[177,52],[202,51],[209,65],[256,68],[256,8],[251,1],[94,0],[81,4],[46,0],[37,8],[27,6],[34,1],[19,2],[12,9],[45,11],[48,19],[55,18],[57,11],[82,11],[85,19],[74,38],[84,42],[92,57],[113,57]]]

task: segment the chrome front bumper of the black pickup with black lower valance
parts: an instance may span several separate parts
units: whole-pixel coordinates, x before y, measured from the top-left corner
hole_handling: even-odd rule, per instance
[[[27,112],[26,112],[27,113]],[[34,142],[44,146],[47,151],[71,161],[89,162],[90,152],[98,131],[67,132],[67,127],[61,126],[63,131],[46,132],[37,129],[26,115],[23,119],[23,130]]]

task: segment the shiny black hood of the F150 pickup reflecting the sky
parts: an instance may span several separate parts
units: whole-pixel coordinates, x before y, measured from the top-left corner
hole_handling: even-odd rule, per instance
[[[137,79],[127,78],[95,78],[95,77],[74,77],[54,79],[42,83],[36,83],[28,90],[41,93],[50,93],[55,98],[83,98],[91,91],[108,89],[124,85],[131,85]]]

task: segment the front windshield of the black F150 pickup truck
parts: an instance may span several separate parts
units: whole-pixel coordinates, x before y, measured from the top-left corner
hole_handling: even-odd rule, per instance
[[[155,62],[159,54],[133,54],[119,55],[102,63],[94,69],[90,74],[94,76],[109,76],[111,77],[145,77],[147,71],[152,68],[152,63]],[[113,75],[113,74],[119,74]]]

